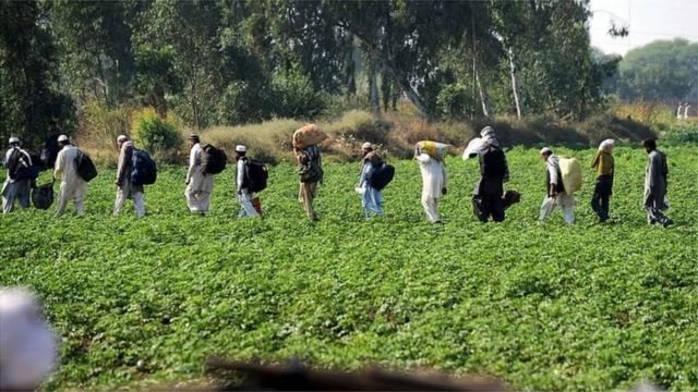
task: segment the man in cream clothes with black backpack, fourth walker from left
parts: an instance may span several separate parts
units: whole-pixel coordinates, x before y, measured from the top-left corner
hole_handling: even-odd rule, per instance
[[[191,151],[189,154],[184,197],[186,197],[186,205],[190,211],[205,215],[208,212],[210,194],[214,191],[214,176],[204,170],[204,149],[201,147],[197,134],[189,136],[189,147],[191,147]]]

